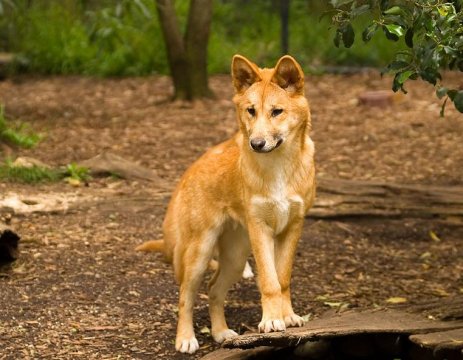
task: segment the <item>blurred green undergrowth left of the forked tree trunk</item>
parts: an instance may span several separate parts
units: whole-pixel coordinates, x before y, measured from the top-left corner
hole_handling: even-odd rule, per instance
[[[34,1],[12,12],[11,50],[23,67],[102,76],[166,71],[154,1],[124,0],[88,11],[80,4]]]

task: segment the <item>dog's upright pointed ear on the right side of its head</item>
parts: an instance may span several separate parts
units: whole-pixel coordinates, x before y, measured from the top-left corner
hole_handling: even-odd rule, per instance
[[[304,72],[298,62],[289,55],[278,60],[272,82],[289,93],[304,95]]]

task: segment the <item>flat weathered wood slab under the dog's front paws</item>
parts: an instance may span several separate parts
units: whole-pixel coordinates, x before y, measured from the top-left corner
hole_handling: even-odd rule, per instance
[[[444,322],[424,319],[401,311],[382,310],[346,312],[307,323],[301,328],[284,332],[241,335],[225,341],[226,348],[257,346],[296,346],[308,340],[368,334],[421,334],[463,329],[463,322]]]

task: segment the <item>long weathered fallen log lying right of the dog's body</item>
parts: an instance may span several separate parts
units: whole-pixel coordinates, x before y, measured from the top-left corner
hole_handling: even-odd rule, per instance
[[[463,186],[318,178],[309,217],[457,217],[461,221]]]

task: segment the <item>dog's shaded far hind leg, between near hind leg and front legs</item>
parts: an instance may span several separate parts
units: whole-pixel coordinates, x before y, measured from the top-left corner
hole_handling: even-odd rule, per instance
[[[224,302],[228,289],[240,280],[251,249],[247,234],[241,227],[227,228],[219,239],[218,249],[219,268],[209,282],[209,314],[212,337],[221,343],[237,335],[228,328]]]

